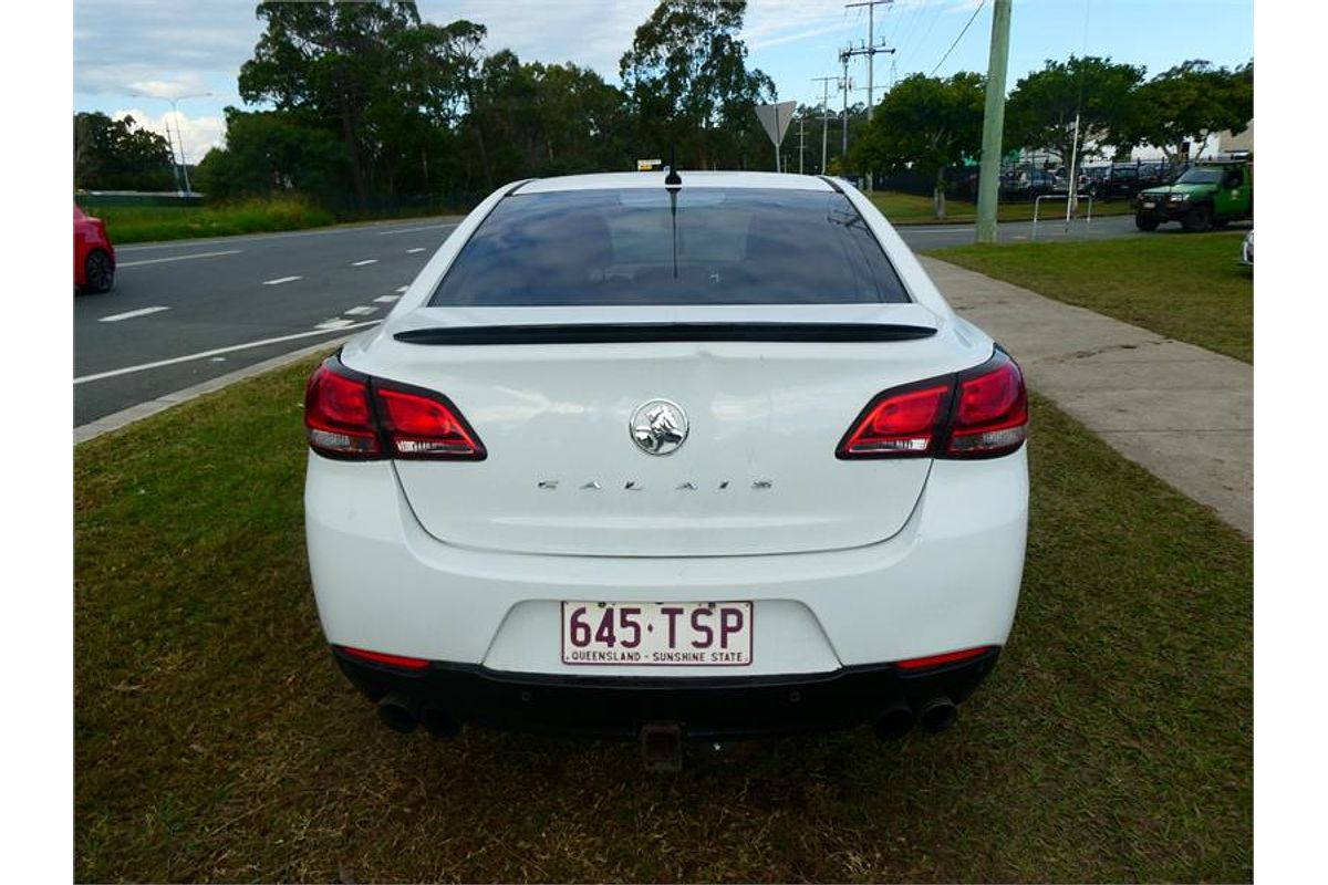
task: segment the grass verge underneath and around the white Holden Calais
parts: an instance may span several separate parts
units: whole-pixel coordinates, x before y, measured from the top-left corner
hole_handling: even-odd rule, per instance
[[[1251,544],[1045,401],[1015,632],[954,730],[659,776],[378,723],[309,589],[312,365],[74,450],[76,880],[1252,877]]]

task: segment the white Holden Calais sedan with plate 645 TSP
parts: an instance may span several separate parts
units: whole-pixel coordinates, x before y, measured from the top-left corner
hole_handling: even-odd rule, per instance
[[[499,188],[309,378],[319,616],[390,727],[899,736],[1005,645],[1015,360],[846,183],[680,178]]]

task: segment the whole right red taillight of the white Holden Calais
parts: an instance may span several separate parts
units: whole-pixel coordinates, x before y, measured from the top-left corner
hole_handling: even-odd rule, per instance
[[[878,394],[839,441],[835,456],[995,458],[1027,438],[1024,375],[997,349],[968,372]]]

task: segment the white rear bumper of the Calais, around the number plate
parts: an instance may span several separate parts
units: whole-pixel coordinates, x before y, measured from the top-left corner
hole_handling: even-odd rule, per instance
[[[309,571],[329,644],[564,677],[788,677],[1003,646],[1027,523],[1027,447],[988,460],[936,460],[914,512],[887,540],[786,555],[477,551],[424,531],[390,462],[311,455],[305,483]],[[750,601],[750,662],[564,663],[563,600]]]

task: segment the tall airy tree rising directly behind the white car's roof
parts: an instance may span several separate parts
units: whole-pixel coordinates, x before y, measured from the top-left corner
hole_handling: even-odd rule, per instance
[[[700,169],[746,165],[761,133],[752,107],[774,98],[774,82],[746,68],[745,13],[746,0],[661,0],[636,29],[619,73],[639,151],[677,145]]]

